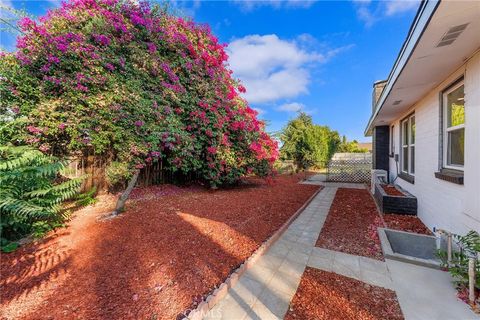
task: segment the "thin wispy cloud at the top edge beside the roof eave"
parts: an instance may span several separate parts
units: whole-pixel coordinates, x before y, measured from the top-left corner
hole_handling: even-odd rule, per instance
[[[377,21],[418,8],[419,0],[352,0],[359,20],[371,27]]]

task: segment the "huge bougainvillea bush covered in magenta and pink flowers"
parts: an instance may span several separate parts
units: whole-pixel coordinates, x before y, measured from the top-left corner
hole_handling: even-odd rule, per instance
[[[19,28],[0,63],[2,125],[16,126],[3,139],[132,170],[161,159],[212,186],[271,172],[277,144],[208,26],[148,2],[73,0]]]

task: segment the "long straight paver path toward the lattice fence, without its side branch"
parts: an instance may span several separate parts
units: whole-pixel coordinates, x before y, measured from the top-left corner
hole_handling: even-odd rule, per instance
[[[281,319],[312,256],[336,187],[324,188],[205,319]]]

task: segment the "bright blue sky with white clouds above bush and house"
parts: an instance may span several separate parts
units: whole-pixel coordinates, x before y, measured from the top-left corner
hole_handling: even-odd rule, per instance
[[[60,4],[0,2],[37,17]],[[363,132],[373,82],[388,77],[418,6],[414,0],[171,2],[228,44],[230,68],[269,132],[301,110],[358,141],[370,140]],[[0,31],[0,45],[14,51],[15,36]]]

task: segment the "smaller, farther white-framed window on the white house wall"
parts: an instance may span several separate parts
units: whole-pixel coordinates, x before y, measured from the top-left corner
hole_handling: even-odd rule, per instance
[[[415,114],[401,121],[401,168],[402,172],[415,174]]]

